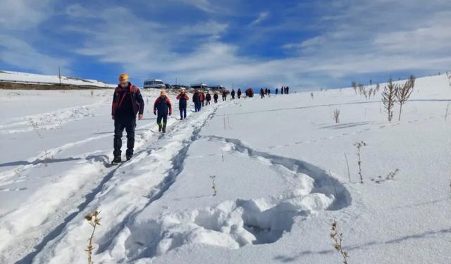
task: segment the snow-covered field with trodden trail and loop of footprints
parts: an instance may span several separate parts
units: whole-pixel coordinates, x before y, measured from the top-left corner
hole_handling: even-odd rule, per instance
[[[92,210],[95,263],[341,263],[333,220],[349,263],[450,263],[447,77],[417,79],[391,124],[380,92],[313,93],[183,121],[170,96],[164,135],[147,104],[134,158],[110,167],[112,91],[0,90],[0,263],[85,263]]]

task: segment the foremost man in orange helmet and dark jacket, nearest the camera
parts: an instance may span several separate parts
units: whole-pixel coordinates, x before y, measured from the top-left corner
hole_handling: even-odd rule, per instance
[[[136,114],[144,118],[144,100],[140,89],[131,84],[127,73],[119,75],[119,84],[114,89],[111,117],[114,120],[113,163],[121,163],[122,133],[127,132],[127,161],[133,156],[135,147]]]

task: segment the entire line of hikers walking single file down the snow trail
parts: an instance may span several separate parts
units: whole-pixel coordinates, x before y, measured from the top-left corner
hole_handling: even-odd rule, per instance
[[[288,94],[288,87],[282,87],[282,90],[284,89],[285,94]],[[264,95],[271,94],[271,89],[261,89],[260,93],[262,96],[261,98],[264,98]],[[278,89],[276,89],[276,94],[277,93]],[[224,90],[221,94],[223,101],[227,101],[228,91]],[[241,98],[241,89],[237,90],[236,95],[237,99]],[[252,88],[246,90],[246,95],[249,97],[254,95]],[[232,100],[235,100],[235,89],[232,89],[230,96],[232,97]],[[218,92],[214,92],[214,103],[218,103],[218,97]],[[185,89],[182,88],[180,89],[180,94],[178,94],[175,99],[178,100],[180,120],[183,120],[187,116],[187,101],[190,100],[190,97],[187,95]],[[199,112],[202,107],[210,104],[211,94],[210,92],[206,92],[205,94],[202,91],[195,90],[194,94],[192,94],[192,101],[194,103],[194,111]],[[156,124],[159,127],[159,132],[166,133],[168,115],[172,115],[172,103],[168,96],[166,96],[165,90],[161,91],[160,96],[155,100],[153,111],[154,115],[157,116]],[[135,146],[136,115],[138,120],[144,118],[144,99],[142,98],[140,89],[130,82],[128,74],[122,73],[119,75],[118,87],[114,89],[111,108],[111,117],[114,120],[114,158],[112,163],[121,163],[122,136],[124,129],[125,132],[127,132],[127,151],[125,152],[125,156],[127,161],[132,158]]]

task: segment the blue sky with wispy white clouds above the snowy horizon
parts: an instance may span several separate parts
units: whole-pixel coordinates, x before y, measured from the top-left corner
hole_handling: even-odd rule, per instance
[[[319,89],[451,69],[448,0],[0,4],[0,70]]]

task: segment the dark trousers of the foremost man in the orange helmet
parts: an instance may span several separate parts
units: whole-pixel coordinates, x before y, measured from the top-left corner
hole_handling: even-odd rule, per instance
[[[135,127],[136,118],[121,118],[114,120],[114,151],[113,155],[121,156],[122,151],[122,133],[125,129],[127,132],[127,152],[128,157],[133,156],[133,148],[135,147]]]

